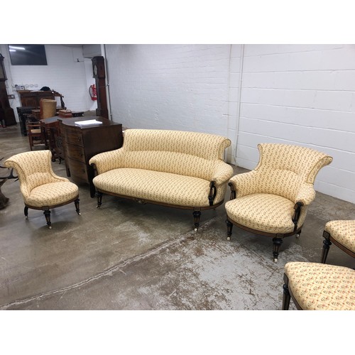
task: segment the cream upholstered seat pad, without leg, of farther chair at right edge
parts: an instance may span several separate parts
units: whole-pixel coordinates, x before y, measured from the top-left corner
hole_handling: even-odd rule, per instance
[[[324,231],[327,231],[339,244],[355,252],[355,220],[327,222]]]

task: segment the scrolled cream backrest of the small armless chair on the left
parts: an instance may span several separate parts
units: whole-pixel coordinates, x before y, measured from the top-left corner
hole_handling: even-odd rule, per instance
[[[50,151],[31,151],[13,155],[4,163],[6,168],[14,168],[21,184],[21,192],[26,197],[34,187],[55,182]]]

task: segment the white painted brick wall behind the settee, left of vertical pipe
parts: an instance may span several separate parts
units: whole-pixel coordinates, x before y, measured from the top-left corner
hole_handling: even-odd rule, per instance
[[[107,45],[112,118],[226,136],[229,55],[230,45]]]

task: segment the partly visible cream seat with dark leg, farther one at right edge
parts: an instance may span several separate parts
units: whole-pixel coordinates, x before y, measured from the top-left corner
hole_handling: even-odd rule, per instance
[[[355,258],[355,220],[330,221],[324,227],[323,236],[321,263],[325,263],[332,242]]]

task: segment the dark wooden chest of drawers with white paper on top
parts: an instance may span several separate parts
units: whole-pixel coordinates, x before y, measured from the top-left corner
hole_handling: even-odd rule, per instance
[[[95,188],[92,183],[94,170],[89,165],[90,158],[104,151],[121,148],[124,138],[121,124],[99,116],[89,117],[89,119],[96,119],[102,124],[91,126],[75,124],[78,121],[87,121],[84,117],[58,118],[58,121],[60,121],[67,176],[77,184],[89,184],[90,196],[94,197]]]

